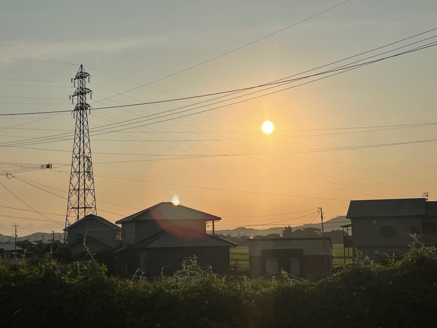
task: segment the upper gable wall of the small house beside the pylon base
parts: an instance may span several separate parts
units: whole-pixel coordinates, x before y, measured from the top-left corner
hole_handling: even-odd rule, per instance
[[[78,235],[94,237],[111,247],[116,247],[118,244],[116,238],[117,231],[93,218],[78,222],[78,224],[70,228],[67,235],[68,243],[76,241]]]

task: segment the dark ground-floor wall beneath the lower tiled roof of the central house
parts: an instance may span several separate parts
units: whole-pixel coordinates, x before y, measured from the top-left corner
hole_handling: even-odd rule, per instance
[[[199,263],[206,266],[211,265],[214,273],[225,274],[229,270],[229,247],[227,246],[165,247],[138,250],[134,254],[135,267],[139,268],[142,264],[140,262],[147,260],[147,276],[160,276],[161,270],[165,276],[171,276],[175,271],[182,269],[183,259],[194,255],[198,257]],[[131,268],[131,271],[136,268]]]

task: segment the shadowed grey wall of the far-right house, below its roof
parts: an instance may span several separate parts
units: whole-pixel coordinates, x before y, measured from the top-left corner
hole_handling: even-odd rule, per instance
[[[410,233],[423,234],[420,217],[351,218],[351,224],[353,247],[372,260],[384,257],[383,253],[403,255],[409,249],[408,243],[412,242]],[[388,226],[395,227],[393,236],[383,235]],[[420,240],[424,241],[423,237]]]

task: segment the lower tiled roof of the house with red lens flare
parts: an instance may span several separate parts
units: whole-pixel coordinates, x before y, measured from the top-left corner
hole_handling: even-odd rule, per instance
[[[229,242],[216,236],[175,225],[168,230],[135,244],[134,248],[157,248],[157,247],[189,247],[189,246],[238,246],[235,242]]]

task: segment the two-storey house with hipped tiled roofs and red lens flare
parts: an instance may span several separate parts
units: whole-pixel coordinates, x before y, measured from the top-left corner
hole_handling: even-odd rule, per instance
[[[122,247],[116,252],[127,275],[142,269],[149,277],[170,276],[194,255],[213,272],[224,274],[229,248],[237,245],[206,234],[206,224],[219,220],[194,208],[159,203],[116,222],[122,232]]]

